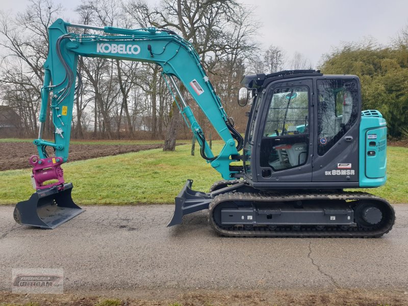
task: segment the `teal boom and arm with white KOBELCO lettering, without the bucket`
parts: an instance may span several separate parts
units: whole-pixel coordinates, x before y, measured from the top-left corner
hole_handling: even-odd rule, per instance
[[[100,30],[101,35],[68,33],[67,28],[88,28]],[[44,63],[45,77],[42,87],[40,109],[40,132],[34,141],[40,159],[46,159],[45,147],[55,149],[61,162],[68,159],[72,110],[75,92],[80,90],[77,81],[78,57],[96,57],[155,63],[163,68],[162,74],[170,80],[179,96],[179,108],[201,147],[201,156],[211,163],[223,179],[231,180],[238,171],[230,170],[230,163],[236,161],[242,148],[242,137],[232,126],[219,97],[215,94],[209,78],[203,70],[193,46],[180,36],[168,30],[155,28],[129,30],[112,27],[92,27],[56,20],[49,27],[49,52]],[[202,112],[224,141],[219,155],[214,156],[205,140],[200,125],[191,108],[186,104],[174,77],[189,91]],[[52,84],[52,85],[51,85]],[[50,97],[50,99],[49,99]],[[50,101],[49,101],[50,100]],[[43,124],[49,103],[55,126],[55,142],[42,139]],[[236,143],[237,141],[237,143]],[[35,174],[34,174],[35,175]],[[37,186],[41,188],[45,186]]]

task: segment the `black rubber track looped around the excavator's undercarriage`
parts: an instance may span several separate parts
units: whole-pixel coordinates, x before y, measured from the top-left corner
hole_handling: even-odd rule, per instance
[[[214,208],[225,201],[257,201],[257,202],[282,202],[297,200],[376,200],[385,203],[390,209],[390,219],[382,226],[371,231],[367,228],[351,227],[348,230],[340,228],[327,228],[327,230],[318,231],[315,228],[301,228],[298,231],[290,227],[276,230],[269,230],[266,226],[257,228],[254,226],[251,230],[244,230],[242,227],[234,227],[234,230],[226,230],[219,227],[213,218]],[[222,236],[228,237],[319,237],[319,238],[377,238],[391,231],[395,223],[395,211],[390,203],[378,196],[364,192],[342,192],[330,194],[257,194],[257,193],[239,193],[230,192],[216,196],[210,203],[209,223],[214,231]]]

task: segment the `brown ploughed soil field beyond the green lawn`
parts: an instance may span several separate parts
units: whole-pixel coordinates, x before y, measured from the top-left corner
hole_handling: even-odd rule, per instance
[[[179,145],[180,143],[177,143]],[[157,149],[163,144],[147,145],[103,145],[103,144],[71,144],[69,146],[69,160],[78,161],[90,158],[118,155],[127,152]],[[48,148],[49,156],[54,152]],[[0,171],[31,168],[29,158],[38,155],[37,148],[30,142],[0,142]]]

